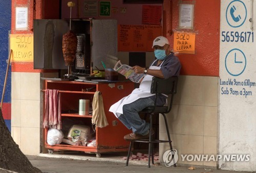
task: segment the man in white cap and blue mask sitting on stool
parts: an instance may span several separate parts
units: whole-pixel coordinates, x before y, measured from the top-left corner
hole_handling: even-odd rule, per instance
[[[159,77],[167,79],[172,76],[178,76],[180,74],[181,64],[178,59],[171,52],[169,41],[163,36],[158,36],[153,41],[153,47],[156,59],[152,62],[151,66],[142,68],[134,66],[135,73],[144,73],[146,76],[140,82],[138,89],[110,107],[110,112],[113,112],[115,116],[129,129],[132,129],[133,133],[125,135],[125,140],[140,140],[148,139],[150,137],[150,124],[139,116],[139,111],[148,106],[154,106],[155,94],[151,94],[152,77]],[[157,100],[157,105],[162,106],[166,103],[166,95],[161,94]],[[152,132],[152,135],[154,132]]]

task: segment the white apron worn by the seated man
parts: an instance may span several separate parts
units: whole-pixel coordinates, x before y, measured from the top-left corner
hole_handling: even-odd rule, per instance
[[[157,59],[156,59],[157,60]],[[156,61],[155,60],[155,61]],[[154,64],[155,61],[152,63]],[[163,61],[164,62],[164,61]],[[151,66],[149,69],[153,69],[153,70],[160,70],[163,62],[160,64],[159,67],[157,66]],[[115,114],[115,116],[118,118],[121,114],[123,114],[123,105],[124,104],[129,104],[132,103],[136,100],[138,100],[139,98],[144,98],[144,97],[150,97],[153,96],[155,94],[151,94],[151,83],[152,83],[152,78],[153,76],[151,75],[146,75],[141,83],[140,83],[140,87],[138,89],[134,89],[133,92],[126,96],[123,97],[121,100],[119,100],[118,102],[116,102],[115,104],[113,104],[110,107],[110,112],[113,112]]]

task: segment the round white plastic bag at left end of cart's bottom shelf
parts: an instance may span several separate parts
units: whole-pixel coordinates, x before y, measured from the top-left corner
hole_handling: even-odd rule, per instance
[[[47,143],[49,145],[60,144],[61,140],[64,138],[64,134],[61,130],[56,128],[50,128],[47,133]]]

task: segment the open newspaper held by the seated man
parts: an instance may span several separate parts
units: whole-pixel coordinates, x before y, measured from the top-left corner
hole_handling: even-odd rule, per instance
[[[131,66],[122,64],[120,60],[115,64],[114,70],[135,83],[139,83],[141,79],[145,76],[144,73],[135,73]]]

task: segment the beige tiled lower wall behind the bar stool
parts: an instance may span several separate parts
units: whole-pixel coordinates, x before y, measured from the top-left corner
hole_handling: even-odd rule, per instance
[[[216,168],[216,161],[187,161],[182,160],[181,155],[217,154],[217,96],[218,77],[179,76],[173,108],[166,114],[172,146],[178,152],[178,165]],[[162,116],[159,138],[167,140]],[[159,144],[160,162],[168,149],[168,143]]]

